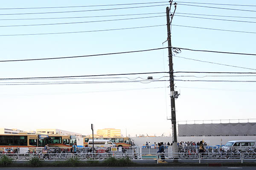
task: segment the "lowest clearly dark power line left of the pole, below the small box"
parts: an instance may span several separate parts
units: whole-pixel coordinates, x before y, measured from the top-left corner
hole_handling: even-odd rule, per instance
[[[40,83],[20,83],[20,84],[0,84],[0,85],[66,85],[66,84],[98,84],[98,83],[128,83],[128,82],[140,82],[140,83],[151,83],[151,82],[163,82],[169,80],[133,80],[133,81],[84,81],[84,82],[40,82]]]

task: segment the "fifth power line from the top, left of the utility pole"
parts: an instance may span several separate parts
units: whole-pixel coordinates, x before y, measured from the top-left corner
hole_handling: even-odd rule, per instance
[[[115,29],[103,29],[103,30],[92,30],[92,31],[73,31],[73,32],[54,32],[54,33],[36,33],[36,34],[5,34],[2,36],[27,36],[27,35],[50,35],[50,34],[73,34],[73,33],[85,33],[85,32],[101,32],[101,31],[116,31],[116,30],[126,30],[126,29],[137,29],[137,28],[151,28],[166,25],[155,25],[155,26],[140,26],[140,27],[130,27],[130,28],[115,28]]]

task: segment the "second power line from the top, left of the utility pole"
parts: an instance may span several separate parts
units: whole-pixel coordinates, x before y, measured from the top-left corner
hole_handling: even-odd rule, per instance
[[[106,11],[106,10],[116,10],[116,9],[145,8],[145,7],[155,7],[155,6],[166,6],[166,5],[133,6],[133,7],[124,7],[124,8],[91,9],[91,10],[80,10],[80,11],[56,11],[56,12],[15,13],[15,14],[0,14],[0,15],[56,14],[56,13],[70,13],[70,12],[89,12],[89,11]]]

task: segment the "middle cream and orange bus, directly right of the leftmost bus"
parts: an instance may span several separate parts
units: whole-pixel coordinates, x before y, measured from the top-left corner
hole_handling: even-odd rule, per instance
[[[49,135],[49,147],[72,147],[74,142],[76,142],[76,136]]]

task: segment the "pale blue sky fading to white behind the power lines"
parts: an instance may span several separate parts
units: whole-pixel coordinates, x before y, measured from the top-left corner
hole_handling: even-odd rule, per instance
[[[84,56],[93,54],[106,54],[122,51],[137,51],[167,47],[167,42],[165,42],[167,39],[167,28],[166,26],[158,25],[166,25],[165,12],[166,7],[169,6],[169,3],[167,1],[166,3],[150,2],[165,1],[5,1],[5,3],[2,3],[0,9],[0,60],[3,61],[19,59]],[[210,51],[228,51],[234,53],[256,54],[255,33],[241,33],[181,27],[192,26],[255,32],[255,1],[244,0],[243,3],[241,3],[241,1],[239,0],[191,1],[197,3],[243,4],[254,6],[224,6],[184,3],[188,1],[182,1],[183,3],[181,1],[174,2],[177,2],[177,9],[172,20],[172,46]],[[99,6],[125,3],[148,4]],[[187,6],[186,4],[189,6]],[[212,6],[220,8],[235,8],[250,11],[206,8],[191,5]],[[60,6],[93,7],[3,9]],[[127,8],[135,6],[151,7]],[[123,9],[105,10],[108,8]],[[80,12],[23,14],[56,11]],[[172,6],[171,12],[173,11],[174,6]],[[239,16],[240,18],[213,17],[192,14]],[[96,17],[106,15],[126,16]],[[209,20],[184,16],[217,18],[222,20]],[[80,18],[38,19],[58,17]],[[148,18],[116,20],[136,17]],[[6,20],[32,18],[37,18],[37,20]],[[252,23],[227,20],[250,21]],[[74,23],[88,21],[101,22]],[[73,24],[17,26],[49,23]],[[95,31],[144,26],[155,27],[122,29],[115,31]],[[93,30],[94,32],[70,34],[3,36],[14,34],[61,33]],[[173,57],[174,71],[256,72],[255,70],[253,70],[256,69],[255,56],[220,54],[187,50],[181,50],[181,53],[176,54],[176,56],[178,57]],[[221,63],[225,65],[234,65],[244,68],[235,68],[206,62],[198,62],[180,57],[197,59],[207,62]],[[0,127],[17,128],[20,130],[36,130],[38,128],[58,128],[62,130],[69,130],[87,135],[91,133],[90,124],[93,123],[96,130],[102,128],[121,129],[122,134],[124,136],[139,136],[141,134],[149,136],[169,136],[170,133],[172,132],[172,125],[171,121],[169,120],[171,117],[171,110],[168,74],[162,73],[104,76],[95,77],[96,79],[91,79],[92,77],[83,77],[84,79],[7,79],[23,77],[63,77],[166,71],[169,71],[167,48],[155,51],[116,55],[102,55],[94,57],[0,62]],[[230,77],[231,75],[238,76],[241,74],[176,73],[175,90],[180,92],[179,98],[175,100],[177,121],[254,119],[256,111],[256,106],[254,104],[254,96],[256,94],[256,82],[178,81],[255,81],[255,77],[253,77],[253,74],[250,74],[250,77]],[[152,76],[153,80],[166,81],[156,81],[148,83],[142,83],[138,81],[145,81],[145,79],[147,79],[148,76]],[[35,84],[33,82],[44,83],[59,81],[91,81],[92,83],[27,85]],[[107,81],[108,83],[95,83],[95,81]]]

